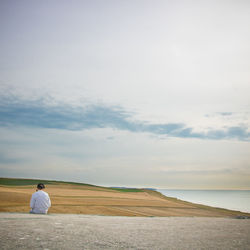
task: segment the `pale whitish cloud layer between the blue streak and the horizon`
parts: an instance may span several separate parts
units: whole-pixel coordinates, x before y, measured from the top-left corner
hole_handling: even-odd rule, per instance
[[[10,159],[23,157],[8,165],[1,162],[4,176],[166,188],[223,187],[215,183],[221,178],[250,188],[249,142],[160,140],[112,129],[1,129],[1,138],[1,152]]]

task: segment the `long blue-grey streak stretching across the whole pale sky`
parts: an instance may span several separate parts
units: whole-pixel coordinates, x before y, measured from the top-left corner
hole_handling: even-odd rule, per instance
[[[113,128],[179,138],[238,139],[242,141],[250,139],[250,133],[243,126],[194,132],[194,128],[183,123],[149,124],[133,121],[133,114],[119,106],[73,107],[66,104],[48,105],[43,100],[25,101],[18,98],[3,98],[0,102],[0,117],[1,126],[21,125],[72,131]]]

